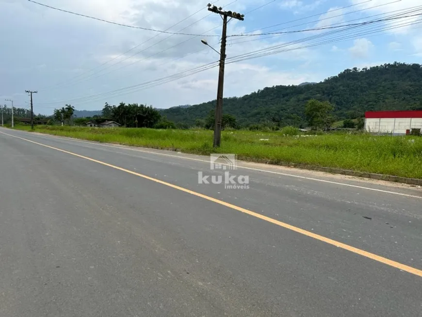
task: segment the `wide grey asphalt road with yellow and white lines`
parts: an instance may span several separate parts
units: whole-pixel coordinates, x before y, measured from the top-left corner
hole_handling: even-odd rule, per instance
[[[420,189],[207,160],[0,128],[0,317],[422,316]]]

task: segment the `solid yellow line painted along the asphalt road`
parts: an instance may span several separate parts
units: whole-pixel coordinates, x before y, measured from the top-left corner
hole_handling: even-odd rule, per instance
[[[91,161],[91,162],[95,162],[95,163],[98,163],[98,164],[101,164],[101,165],[104,165],[104,166],[107,166],[107,167],[112,167],[114,169],[118,169],[118,170],[121,170],[123,172],[129,173],[129,174],[132,174],[132,175],[135,175],[135,176],[139,176],[139,177],[142,177],[144,179],[147,179],[147,180],[150,180],[150,181],[153,181],[153,182],[156,182],[156,183],[159,183],[159,184],[168,186],[168,187],[172,187],[174,189],[178,189],[178,190],[180,190],[182,192],[185,192],[185,193],[188,193],[188,194],[191,194],[191,195],[194,195],[194,196],[197,196],[197,197],[200,197],[200,198],[203,198],[203,199],[206,199],[206,200],[209,200],[209,201],[218,203],[218,204],[223,205],[225,207],[228,207],[228,208],[231,208],[231,209],[240,211],[240,212],[242,212],[244,214],[247,214],[247,215],[250,215],[250,216],[259,218],[261,220],[265,220],[267,222],[273,223],[273,224],[275,224],[277,226],[280,226],[280,227],[283,227],[283,228],[292,230],[292,231],[294,231],[296,233],[306,235],[306,236],[308,236],[310,238],[314,238],[316,240],[319,240],[319,241],[328,243],[330,245],[336,246],[336,247],[341,248],[343,250],[348,250],[350,252],[353,252],[353,253],[359,254],[361,256],[367,257],[369,259],[372,259],[374,261],[377,261],[377,262],[386,264],[386,265],[388,265],[390,267],[395,267],[395,268],[401,269],[403,271],[406,271],[408,273],[411,273],[411,274],[414,274],[414,275],[417,275],[417,276],[422,277],[422,270],[417,269],[415,267],[409,267],[409,266],[407,266],[405,264],[402,264],[402,263],[399,263],[399,262],[396,262],[396,261],[387,259],[385,257],[379,256],[379,255],[376,255],[376,254],[373,254],[373,253],[368,252],[368,251],[365,251],[365,250],[361,250],[361,249],[358,249],[358,248],[349,246],[347,244],[344,244],[344,243],[341,243],[339,241],[336,241],[336,240],[327,238],[325,236],[322,236],[322,235],[319,235],[319,234],[314,234],[314,233],[309,232],[307,230],[304,230],[304,229],[301,229],[301,228],[292,226],[292,225],[290,225],[288,223],[285,223],[285,222],[282,222],[282,221],[278,221],[276,219],[273,219],[273,218],[270,218],[270,217],[261,215],[259,213],[254,212],[254,211],[251,211],[251,210],[248,210],[248,209],[245,209],[245,208],[242,208],[242,207],[233,205],[233,204],[228,203],[226,201],[218,200],[218,199],[212,198],[210,196],[197,193],[197,192],[195,192],[193,190],[190,190],[190,189],[187,189],[187,188],[183,188],[183,187],[180,187],[178,185],[170,184],[170,183],[167,183],[167,182],[163,182],[163,181],[158,180],[156,178],[152,178],[152,177],[149,177],[149,176],[146,176],[146,175],[137,173],[137,172],[133,172],[133,171],[131,171],[129,169],[126,169],[126,168],[123,168],[123,167],[118,167],[118,166],[115,166],[115,165],[112,165],[112,164],[108,164],[108,163],[105,163],[105,162],[102,162],[102,161],[98,161],[98,160],[95,160],[95,159],[90,158],[90,157],[87,157],[87,156],[83,156],[83,155],[80,155],[80,154],[77,154],[77,153],[73,153],[73,152],[69,152],[69,151],[66,151],[66,150],[54,148],[54,147],[51,147],[49,145],[46,145],[46,144],[43,144],[43,143],[38,143],[38,142],[35,142],[35,141],[31,141],[31,140],[25,139],[25,138],[20,137],[20,136],[8,134],[8,133],[3,133],[3,132],[0,132],[0,133],[9,135],[9,136],[12,136],[12,137],[15,137],[15,138],[18,138],[18,139],[21,139],[21,140],[24,140],[24,141],[33,143],[33,144],[37,144],[37,145],[40,145],[40,146],[43,146],[43,147],[46,147],[46,148],[49,148],[49,149],[58,150],[60,152],[66,153],[66,154],[77,156],[77,157],[80,157],[82,159],[85,159],[85,160],[88,160],[88,161]]]

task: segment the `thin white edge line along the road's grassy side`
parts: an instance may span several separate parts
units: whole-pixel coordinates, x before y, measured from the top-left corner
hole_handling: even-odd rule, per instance
[[[14,131],[20,131],[20,130],[14,130]],[[23,132],[25,132],[25,131],[23,131]],[[100,145],[100,146],[108,147],[108,148],[132,150],[132,151],[137,151],[137,152],[144,152],[144,153],[157,154],[157,155],[163,155],[163,156],[177,157],[177,158],[182,158],[182,159],[185,159],[185,160],[205,162],[205,163],[208,163],[208,164],[210,163],[210,161],[195,159],[195,158],[192,158],[192,157],[184,157],[184,156],[179,156],[179,155],[172,155],[172,154],[158,153],[158,152],[147,151],[147,150],[133,149],[133,148],[124,147],[124,146],[102,144],[100,142],[87,142],[87,141],[81,141],[81,140],[77,140],[77,139],[74,139],[74,138],[71,138],[71,137],[65,137],[65,136],[57,136],[57,135],[44,134],[44,133],[36,133],[36,134],[38,134],[40,136],[47,136],[47,137],[51,137],[51,138],[58,138],[58,139],[62,139],[62,140],[69,140],[69,141],[74,141],[74,142],[79,142],[79,143]],[[222,165],[227,165],[227,164],[223,163]],[[299,176],[299,175],[293,175],[293,174],[287,174],[287,173],[281,173],[281,172],[274,172],[274,171],[270,171],[270,170],[266,170],[266,169],[260,169],[260,168],[244,167],[244,166],[239,166],[239,165],[237,167],[238,168],[244,168],[244,169],[250,169],[250,170],[256,170],[256,171],[259,171],[259,172],[265,172],[265,173],[277,174],[277,175],[282,175],[282,176],[289,176],[289,177],[294,177],[294,178],[299,178],[299,179],[305,179],[305,180],[309,180],[309,181],[316,181],[316,182],[322,182],[322,183],[328,183],[328,184],[348,186],[348,187],[353,187],[353,188],[377,191],[377,192],[381,192],[381,193],[387,193],[387,194],[393,194],[393,195],[400,195],[400,196],[405,196],[405,197],[422,199],[421,196],[397,193],[397,192],[392,192],[392,191],[388,191],[388,190],[382,190],[382,189],[376,189],[376,188],[370,188],[370,187],[364,187],[364,186],[358,186],[358,185],[352,185],[352,184],[344,184],[344,183],[326,181],[326,180],[321,180],[321,179],[318,179],[318,178],[311,178],[311,177],[306,177],[306,176]]]

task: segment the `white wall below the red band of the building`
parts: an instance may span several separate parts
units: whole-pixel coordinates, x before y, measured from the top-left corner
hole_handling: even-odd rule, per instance
[[[422,129],[422,118],[365,119],[365,131],[370,133],[406,134],[411,129]]]

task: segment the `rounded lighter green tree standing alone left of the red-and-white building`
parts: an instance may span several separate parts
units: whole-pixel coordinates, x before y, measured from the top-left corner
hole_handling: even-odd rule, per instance
[[[305,116],[312,129],[328,130],[334,122],[332,115],[334,106],[329,101],[308,100],[305,107]]]

